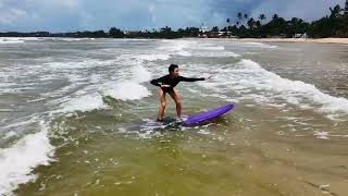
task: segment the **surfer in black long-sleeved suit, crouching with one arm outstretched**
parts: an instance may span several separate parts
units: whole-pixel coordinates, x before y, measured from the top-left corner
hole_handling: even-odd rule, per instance
[[[152,79],[150,83],[154,86],[159,86],[159,96],[161,100],[158,121],[163,120],[164,109],[165,109],[165,94],[170,94],[170,96],[174,99],[176,103],[176,114],[177,119],[182,120],[182,101],[181,97],[178,96],[176,89],[174,88],[179,82],[196,82],[196,81],[206,81],[209,77],[199,77],[199,78],[189,78],[184,77],[178,74],[178,66],[177,64],[171,64],[169,68],[170,74],[164,75],[160,78]]]

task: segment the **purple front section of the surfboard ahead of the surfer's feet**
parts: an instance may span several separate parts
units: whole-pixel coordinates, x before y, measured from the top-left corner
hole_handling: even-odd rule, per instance
[[[234,107],[235,107],[234,105],[226,105],[224,107],[216,108],[216,109],[213,109],[213,110],[209,110],[209,111],[203,112],[203,113],[189,115],[186,120],[184,120],[184,124],[190,125],[190,124],[196,124],[196,123],[200,123],[200,122],[213,119],[215,117],[219,117],[219,115],[222,115],[222,114],[228,112]]]

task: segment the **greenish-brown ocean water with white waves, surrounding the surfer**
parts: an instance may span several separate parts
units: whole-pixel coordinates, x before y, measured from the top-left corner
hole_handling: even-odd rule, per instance
[[[171,63],[212,76],[185,115],[235,109],[144,126]],[[345,45],[0,38],[0,195],[348,194]]]

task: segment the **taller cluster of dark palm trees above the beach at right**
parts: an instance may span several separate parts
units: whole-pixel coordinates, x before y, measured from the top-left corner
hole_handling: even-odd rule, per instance
[[[236,24],[233,26],[227,25],[222,30],[231,32],[233,35],[243,38],[293,37],[295,34],[304,33],[312,38],[348,37],[348,15],[337,4],[334,8],[330,8],[330,15],[311,23],[304,22],[299,17],[286,21],[277,14],[272,15],[271,21],[264,23],[266,20],[265,14],[260,14],[258,20],[254,20],[249,17],[248,14],[239,12]],[[229,24],[229,19],[226,22]]]

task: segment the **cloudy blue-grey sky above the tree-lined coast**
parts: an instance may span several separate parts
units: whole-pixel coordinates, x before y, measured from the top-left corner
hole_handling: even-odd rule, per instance
[[[330,14],[345,0],[0,0],[0,32],[209,28],[237,21],[237,13],[254,19],[274,13],[311,22]]]

